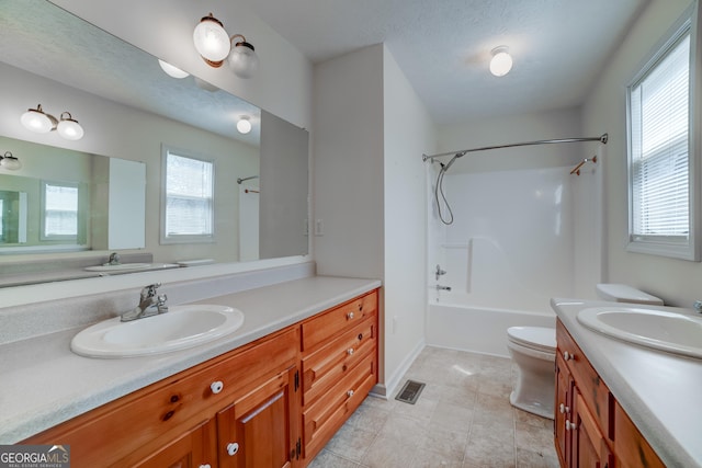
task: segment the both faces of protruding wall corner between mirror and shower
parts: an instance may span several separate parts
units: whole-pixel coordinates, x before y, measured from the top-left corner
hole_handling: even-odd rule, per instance
[[[429,115],[383,45],[315,67],[319,274],[382,278],[381,387],[392,392],[424,336]],[[384,298],[384,300],[383,300]],[[383,388],[383,385],[386,388]]]

